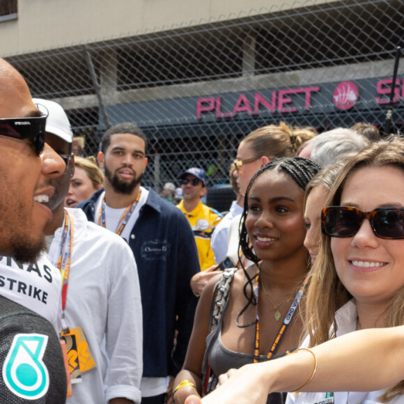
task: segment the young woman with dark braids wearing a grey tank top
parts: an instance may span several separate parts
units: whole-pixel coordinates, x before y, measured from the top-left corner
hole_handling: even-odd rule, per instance
[[[191,394],[208,392],[205,383],[213,387],[215,375],[229,368],[272,359],[297,347],[302,332],[298,303],[309,268],[303,246],[304,189],[319,169],[311,160],[283,157],[263,166],[251,179],[240,246],[253,265],[234,273],[213,330],[210,303],[219,295],[215,286],[221,277],[205,286],[185,364],[174,382],[176,404]],[[282,403],[283,395],[271,395],[267,402]]]

